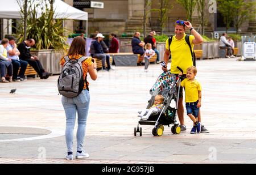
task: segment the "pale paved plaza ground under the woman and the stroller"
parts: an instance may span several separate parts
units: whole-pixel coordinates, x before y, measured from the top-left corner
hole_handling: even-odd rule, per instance
[[[160,65],[115,67],[88,78],[90,109],[85,160],[64,160],[65,114],[57,91],[58,75],[49,79],[0,84],[0,163],[256,163],[256,62],[236,59],[197,61],[202,84],[201,116],[209,134],[174,135],[164,126],[142,125],[134,136],[138,110],[146,108]],[[14,94],[10,89],[16,88]],[[75,138],[74,138],[75,139]],[[74,140],[76,150],[76,140]]]

